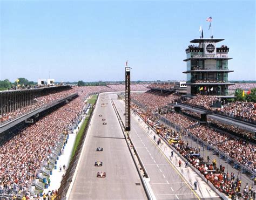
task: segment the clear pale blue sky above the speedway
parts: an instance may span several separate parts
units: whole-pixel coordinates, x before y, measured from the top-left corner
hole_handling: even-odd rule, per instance
[[[1,1],[0,80],[185,80],[190,40],[230,47],[230,80],[256,80],[255,1]]]

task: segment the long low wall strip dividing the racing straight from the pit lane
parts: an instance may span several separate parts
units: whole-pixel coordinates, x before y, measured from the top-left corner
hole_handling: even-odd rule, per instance
[[[135,148],[134,145],[133,145],[133,142],[132,142],[132,140],[131,140],[131,137],[129,137],[129,141],[128,141],[128,139],[126,138],[124,122],[123,122],[122,118],[120,117],[120,115],[119,115],[119,113],[118,113],[118,111],[117,111],[117,108],[116,108],[116,106],[114,105],[114,102],[113,102],[112,99],[111,99],[111,103],[112,103],[112,106],[113,106],[113,108],[114,108],[114,112],[115,112],[116,115],[117,115],[119,124],[120,124],[120,126],[121,126],[122,132],[123,132],[124,137],[125,137],[125,141],[126,141],[126,143],[127,143],[127,146],[128,146],[128,148],[129,148],[129,151],[130,151],[130,153],[131,153],[132,160],[133,160],[134,164],[136,165],[136,169],[137,169],[137,171],[138,171],[140,180],[142,181],[143,188],[144,188],[144,190],[145,190],[145,192],[146,192],[147,198],[148,198],[148,199],[153,199],[153,197],[152,197],[152,195],[151,195],[151,193],[150,193],[150,191],[149,191],[149,188],[147,187],[147,184],[146,184],[146,182],[145,182],[145,180],[144,180],[142,174],[140,173],[140,170],[139,170],[139,168],[138,168],[138,165],[136,164],[136,160],[135,160],[135,157],[134,157],[134,155],[133,155],[133,153],[132,153],[132,149],[131,149],[131,147],[130,147],[130,145],[129,145],[129,141],[130,141],[130,143],[131,143],[131,145],[132,145],[132,147],[133,147],[134,153],[136,154],[136,156],[137,156],[137,158],[138,158],[138,161],[139,161],[139,163],[140,163],[140,166],[142,166],[142,169],[143,169],[143,171],[144,171],[144,176],[145,176],[146,178],[149,178],[149,175],[147,174],[147,171],[146,171],[146,169],[145,169],[145,167],[144,167],[144,164],[143,164],[141,158],[139,157],[139,154],[137,153],[136,148]]]

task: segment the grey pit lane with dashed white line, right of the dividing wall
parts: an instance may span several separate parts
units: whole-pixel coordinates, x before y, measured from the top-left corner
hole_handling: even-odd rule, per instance
[[[114,96],[111,95],[113,98]],[[114,99],[114,98],[113,98]],[[124,102],[113,100],[125,120]],[[131,139],[150,177],[150,185],[157,199],[199,199],[199,195],[185,178],[178,173],[168,158],[159,150],[145,130],[139,125],[138,117],[131,112]],[[166,149],[167,150],[167,149]]]

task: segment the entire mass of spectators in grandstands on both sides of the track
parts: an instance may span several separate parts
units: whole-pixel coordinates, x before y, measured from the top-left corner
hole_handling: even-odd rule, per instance
[[[230,156],[235,161],[244,165],[255,172],[256,169],[256,148],[255,144],[242,137],[236,136],[246,135],[247,139],[254,139],[255,135],[241,130],[238,127],[221,124],[217,121],[210,120],[208,125],[200,125],[197,116],[194,119],[188,117],[193,113],[174,112],[170,104],[181,102],[185,105],[203,107],[207,111],[214,111],[227,116],[238,117],[248,122],[255,123],[255,102],[235,101],[225,104],[221,108],[213,108],[219,99],[215,96],[197,95],[193,99],[184,99],[178,93],[163,94],[152,88],[159,88],[158,85],[136,84],[131,85],[131,91],[147,91],[142,94],[132,94],[133,101],[132,109],[137,112],[142,118],[151,125],[159,135],[167,140],[167,136],[179,138],[178,143],[172,143],[181,155],[187,156],[187,152],[197,149],[188,146],[181,139],[181,135],[186,135],[187,132],[198,137],[199,139],[210,144],[214,148],[223,151],[227,156]],[[254,87],[255,85],[246,85],[245,88]],[[165,86],[161,86],[163,89]],[[167,88],[174,88],[174,85],[168,85]],[[239,86],[241,87],[241,86]],[[149,90],[150,89],[150,90]],[[1,123],[7,120],[15,120],[17,116],[24,115],[33,109],[37,109],[50,102],[61,99],[72,93],[78,93],[78,97],[70,102],[52,108],[52,111],[44,114],[35,123],[31,125],[18,126],[15,129],[8,130],[8,136],[2,135],[0,138],[0,190],[10,190],[15,195],[31,194],[31,186],[33,181],[38,178],[42,164],[49,160],[52,148],[57,141],[63,139],[69,133],[71,127],[80,121],[81,115],[84,112],[87,103],[85,99],[91,95],[100,92],[124,91],[124,85],[107,85],[107,86],[86,86],[72,87],[69,90],[50,93],[46,95],[35,95],[34,104],[22,107],[16,111],[4,113],[0,116]],[[157,115],[158,114],[158,115]],[[164,123],[159,121],[159,115],[171,121],[180,127],[180,132],[173,132]],[[194,114],[196,115],[196,114]],[[218,129],[214,128],[215,125]],[[220,129],[224,130],[220,131]],[[217,169],[214,163],[207,165],[199,165],[198,157],[187,157],[203,174],[207,169],[214,169],[220,174],[218,178],[213,174],[204,174],[207,180],[212,182],[221,192],[226,195],[238,194],[243,191],[239,180],[233,180],[232,175],[226,173],[225,168]],[[225,173],[225,174],[224,174]],[[232,181],[233,180],[233,181]],[[247,192],[248,193],[248,192]]]

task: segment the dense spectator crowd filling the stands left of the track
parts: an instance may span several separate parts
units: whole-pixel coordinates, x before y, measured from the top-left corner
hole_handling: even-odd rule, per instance
[[[39,169],[51,149],[72,123],[76,122],[85,106],[89,94],[109,92],[105,86],[73,87],[70,91],[60,92],[37,98],[37,106],[62,98],[70,93],[78,93],[78,98],[55,111],[43,116],[30,126],[21,127],[11,139],[0,143],[0,186],[12,189],[17,194],[25,194],[37,177]]]

